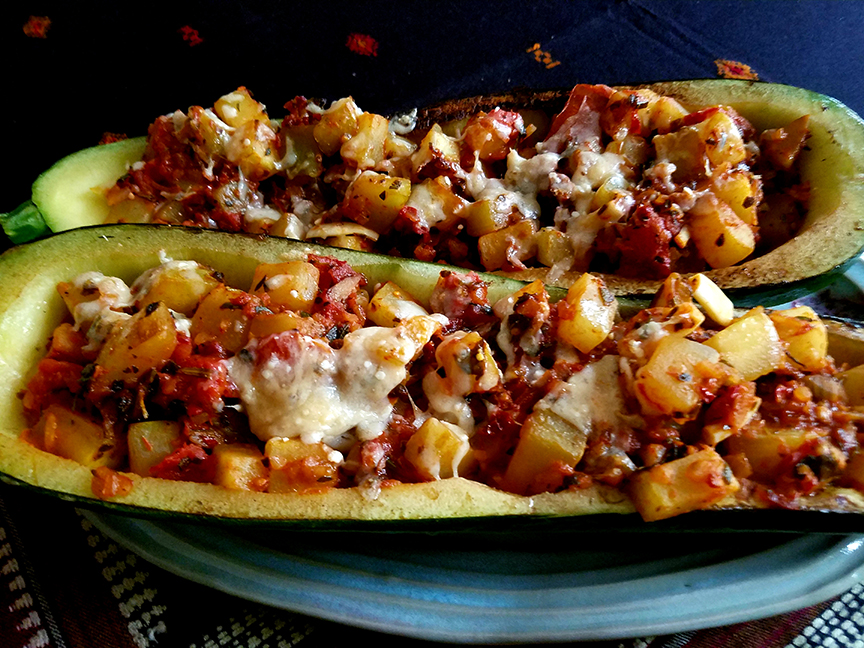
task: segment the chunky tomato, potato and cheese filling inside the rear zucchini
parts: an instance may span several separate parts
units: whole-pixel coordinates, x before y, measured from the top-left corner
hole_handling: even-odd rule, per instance
[[[297,97],[273,119],[245,88],[159,117],[107,191],[111,222],[316,240],[469,269],[662,279],[792,237],[808,201],[808,116],[757,130],[729,106],[578,85],[556,115],[477,111],[413,128]]]

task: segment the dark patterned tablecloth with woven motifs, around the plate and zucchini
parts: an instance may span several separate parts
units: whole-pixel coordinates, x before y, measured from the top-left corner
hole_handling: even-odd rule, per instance
[[[155,115],[239,85],[265,104],[351,94],[364,109],[386,113],[513,88],[720,76],[803,86],[864,112],[858,2],[26,0],[0,23],[0,116],[14,162],[6,166],[4,210],[27,199],[35,176],[63,155],[142,134]],[[817,301],[864,319],[855,290],[847,285]],[[862,603],[857,584],[759,621],[567,645],[864,646]],[[108,539],[69,503],[0,486],[0,646],[315,648],[362,640],[432,645],[183,580]]]

